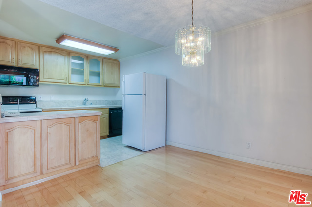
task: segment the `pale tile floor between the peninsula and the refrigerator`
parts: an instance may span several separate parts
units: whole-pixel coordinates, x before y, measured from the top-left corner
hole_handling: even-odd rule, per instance
[[[101,139],[99,165],[101,167],[108,166],[143,153],[144,151],[122,144],[122,136]]]

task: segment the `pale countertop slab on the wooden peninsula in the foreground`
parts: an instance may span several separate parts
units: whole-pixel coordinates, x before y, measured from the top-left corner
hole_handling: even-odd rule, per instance
[[[71,118],[81,116],[97,116],[102,112],[90,110],[73,110],[73,111],[56,111],[56,112],[35,112],[20,113],[20,116],[0,118],[0,123],[17,122],[17,121],[33,121],[43,119]]]

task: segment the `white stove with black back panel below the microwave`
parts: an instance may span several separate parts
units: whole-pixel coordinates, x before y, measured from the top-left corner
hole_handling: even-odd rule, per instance
[[[2,96],[2,113],[8,112],[42,112],[41,108],[36,106],[35,96]]]

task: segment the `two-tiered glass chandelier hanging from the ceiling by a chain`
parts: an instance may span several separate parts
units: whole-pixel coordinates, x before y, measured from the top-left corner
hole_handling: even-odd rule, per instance
[[[204,54],[210,51],[210,28],[202,25],[182,27],[176,31],[176,54],[182,55],[182,65],[196,67],[204,64]]]

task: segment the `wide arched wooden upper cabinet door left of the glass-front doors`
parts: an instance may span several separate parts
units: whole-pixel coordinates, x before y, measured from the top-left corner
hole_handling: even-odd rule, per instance
[[[68,52],[40,46],[39,81],[68,83]]]

